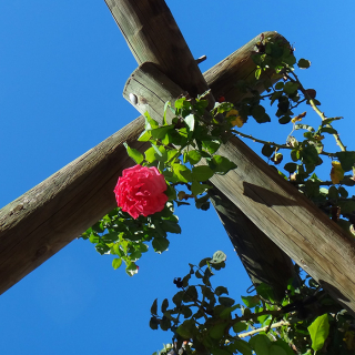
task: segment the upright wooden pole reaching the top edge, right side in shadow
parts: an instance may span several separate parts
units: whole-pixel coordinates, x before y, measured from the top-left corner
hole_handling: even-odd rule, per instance
[[[192,97],[209,89],[165,1],[105,0],[136,62],[153,62]]]

